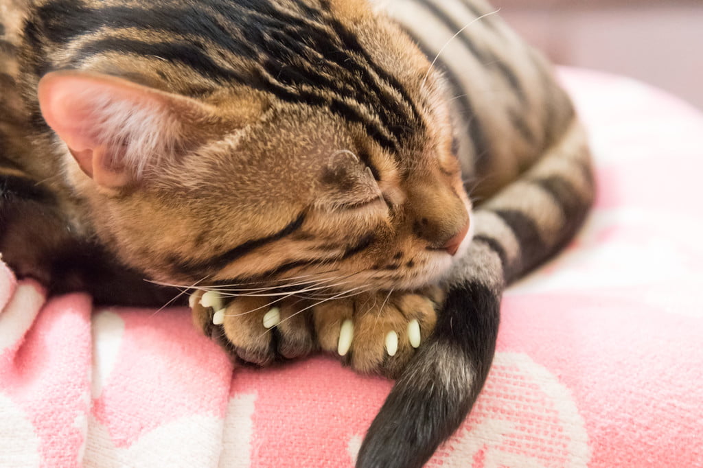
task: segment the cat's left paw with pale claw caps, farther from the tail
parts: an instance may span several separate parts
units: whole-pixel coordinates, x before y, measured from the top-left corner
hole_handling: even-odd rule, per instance
[[[243,363],[269,365],[317,349],[304,299],[223,297],[196,291],[191,296],[193,323]]]

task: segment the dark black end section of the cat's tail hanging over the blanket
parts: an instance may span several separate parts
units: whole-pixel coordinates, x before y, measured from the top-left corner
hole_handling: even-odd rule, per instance
[[[480,282],[449,292],[433,336],[368,429],[357,467],[421,467],[459,427],[493,360],[499,302],[500,292]]]

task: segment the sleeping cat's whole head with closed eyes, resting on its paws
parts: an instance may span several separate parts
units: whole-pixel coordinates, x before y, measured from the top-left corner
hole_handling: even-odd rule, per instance
[[[470,201],[440,80],[354,5],[329,6],[329,37],[315,39],[328,50],[289,56],[310,41],[271,32],[270,67],[243,63],[244,79],[191,96],[158,60],[46,75],[41,112],[101,242],[179,284],[403,288],[445,273],[470,237]]]

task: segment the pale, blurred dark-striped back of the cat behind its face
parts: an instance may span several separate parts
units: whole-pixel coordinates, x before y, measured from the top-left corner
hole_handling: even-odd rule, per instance
[[[572,122],[547,60],[487,1],[372,1],[444,76],[463,173],[490,179],[479,198],[533,164]]]

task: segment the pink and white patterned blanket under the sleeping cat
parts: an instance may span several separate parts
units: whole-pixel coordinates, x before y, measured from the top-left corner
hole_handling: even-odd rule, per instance
[[[472,415],[431,467],[703,467],[703,115],[562,71],[600,195],[508,290]],[[349,467],[392,383],[233,368],[183,308],[93,309],[0,266],[0,467]]]

